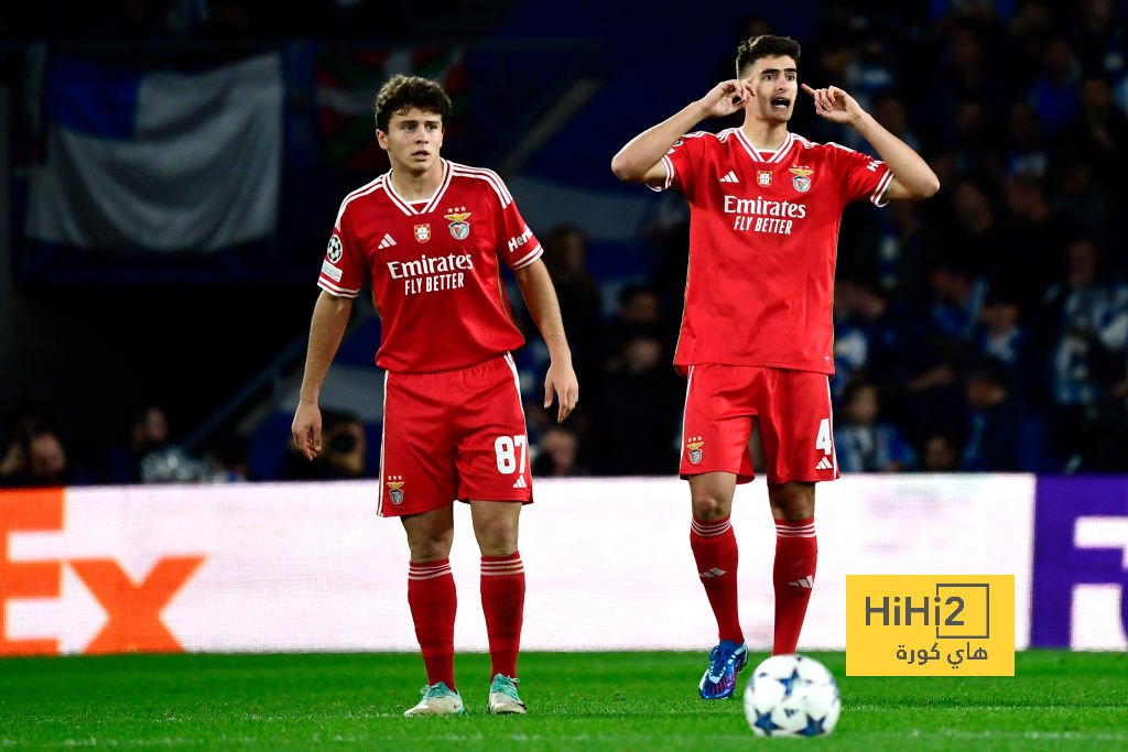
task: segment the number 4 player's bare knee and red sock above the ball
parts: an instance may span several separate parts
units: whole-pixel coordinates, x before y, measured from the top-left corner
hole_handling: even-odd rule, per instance
[[[819,543],[814,537],[814,484],[799,480],[768,486],[776,525],[775,637],[772,655],[794,653],[814,586]]]

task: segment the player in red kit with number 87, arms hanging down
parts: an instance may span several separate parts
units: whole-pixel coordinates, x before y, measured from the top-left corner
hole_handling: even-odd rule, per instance
[[[525,713],[517,656],[525,605],[518,517],[531,503],[529,445],[510,351],[513,324],[501,263],[517,276],[548,346],[545,407],[557,421],[579,386],[540,244],[501,178],[439,156],[450,99],[434,81],[396,76],[376,99],[376,138],[391,169],[341,203],[314,307],[293,437],[321,449],[318,393],[365,277],[382,320],[381,516],[398,516],[411,563],[407,600],[426,666],[423,699],[405,715],[464,711],[455,685],[453,499],[469,502],[482,551],[490,639],[490,711]]]

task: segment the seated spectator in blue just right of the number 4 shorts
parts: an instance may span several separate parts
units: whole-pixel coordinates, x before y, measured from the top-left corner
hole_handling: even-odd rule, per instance
[[[852,381],[843,396],[843,410],[835,423],[835,454],[843,472],[900,472],[916,462],[900,431],[880,421],[878,388]]]

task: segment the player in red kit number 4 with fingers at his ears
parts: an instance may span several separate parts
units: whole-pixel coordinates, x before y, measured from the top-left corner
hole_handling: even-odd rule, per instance
[[[611,160],[626,183],[676,187],[690,205],[689,274],[675,364],[688,379],[680,474],[689,543],[720,644],[698,691],[730,697],[748,660],[737,607],[735,485],[752,479],[759,422],[776,524],[774,654],[794,653],[814,583],[814,483],[838,477],[830,423],[831,303],[843,209],[926,198],[935,174],[837,87],[803,90],[823,118],[855,129],[881,160],[787,131],[799,96],[799,44],[758,36],[737,78],[644,131]],[[694,132],[744,112],[739,129]]]

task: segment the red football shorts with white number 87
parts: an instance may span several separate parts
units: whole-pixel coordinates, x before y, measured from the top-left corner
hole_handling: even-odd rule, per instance
[[[456,498],[532,502],[525,410],[509,353],[453,371],[385,375],[377,513],[420,514]]]

